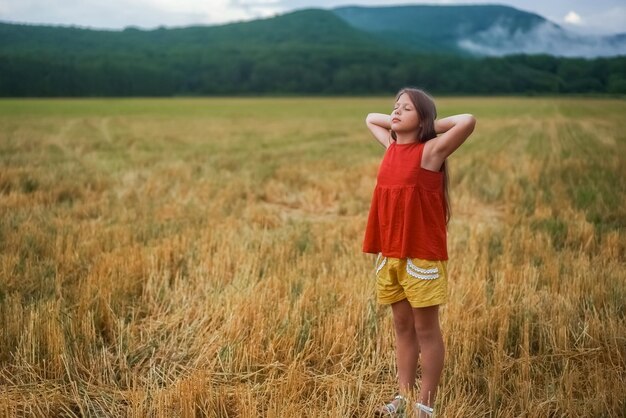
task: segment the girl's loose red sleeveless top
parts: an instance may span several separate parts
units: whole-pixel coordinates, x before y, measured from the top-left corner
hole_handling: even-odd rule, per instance
[[[363,252],[447,260],[443,171],[421,167],[424,143],[391,142],[378,169]]]

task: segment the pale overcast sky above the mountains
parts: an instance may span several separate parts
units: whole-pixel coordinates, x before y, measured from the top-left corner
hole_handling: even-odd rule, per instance
[[[220,24],[308,7],[504,4],[585,33],[626,32],[624,0],[0,0],[0,20],[102,29]]]

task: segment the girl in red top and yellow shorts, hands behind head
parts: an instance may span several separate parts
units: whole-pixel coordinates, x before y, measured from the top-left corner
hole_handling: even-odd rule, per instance
[[[370,113],[366,119],[386,151],[363,252],[378,254],[377,299],[393,313],[400,393],[377,411],[379,416],[404,413],[404,394],[415,387],[420,353],[422,384],[414,410],[418,418],[433,416],[443,369],[439,305],[447,299],[446,158],[470,136],[476,119],[469,114],[436,118],[433,99],[406,88],[396,96],[391,115]]]

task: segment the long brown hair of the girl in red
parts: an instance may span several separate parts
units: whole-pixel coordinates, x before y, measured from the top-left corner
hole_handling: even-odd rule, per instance
[[[424,90],[416,89],[416,88],[403,88],[398,94],[396,94],[396,101],[406,93],[415,106],[415,110],[417,110],[417,115],[419,116],[419,126],[417,128],[417,141],[420,143],[428,142],[433,138],[437,137],[437,132],[435,132],[435,119],[437,119],[437,107],[435,106],[435,101],[433,98],[426,93]],[[392,130],[391,137],[394,141],[397,139],[396,133]],[[450,216],[452,211],[450,209],[450,197],[449,197],[449,175],[448,175],[448,164],[447,161],[444,160],[441,165],[440,171],[443,171],[443,198],[445,202],[446,209],[446,225],[450,221]]]

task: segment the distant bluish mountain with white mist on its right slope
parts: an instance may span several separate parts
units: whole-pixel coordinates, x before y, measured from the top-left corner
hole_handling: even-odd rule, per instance
[[[509,6],[341,7],[332,12],[352,27],[417,51],[478,56],[626,55],[626,34],[581,35]]]

